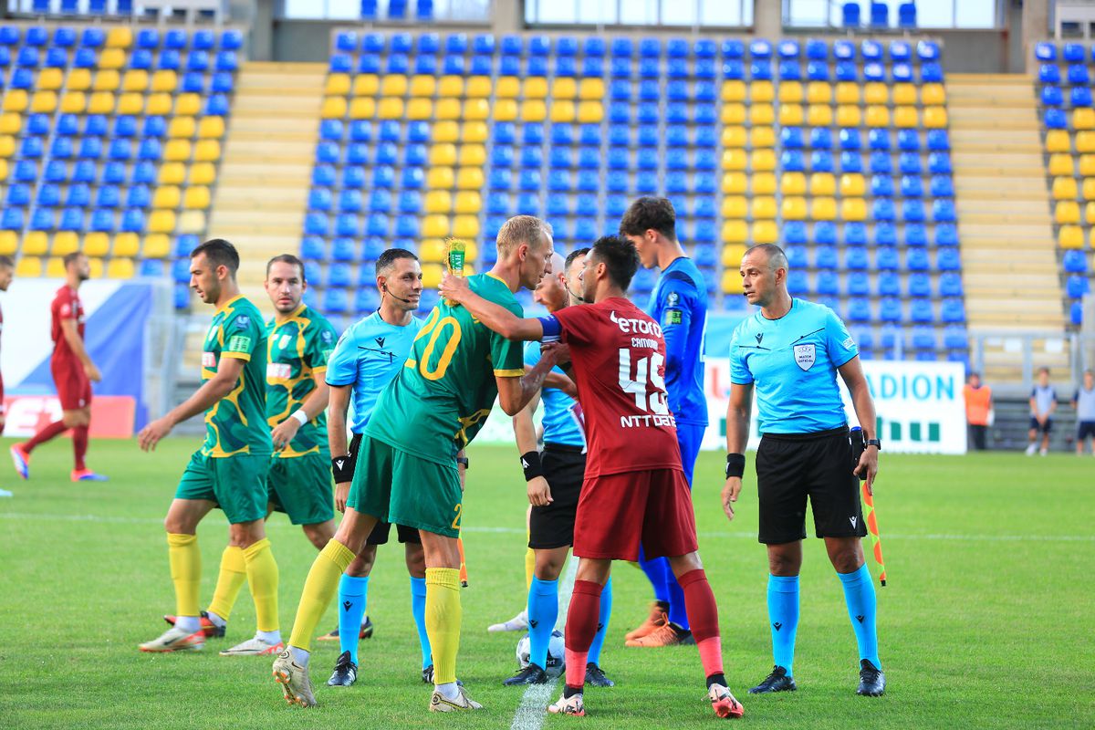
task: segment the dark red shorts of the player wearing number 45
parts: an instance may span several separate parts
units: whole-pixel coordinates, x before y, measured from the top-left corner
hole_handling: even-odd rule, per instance
[[[574,522],[574,554],[637,560],[696,549],[695,513],[684,472],[648,470],[587,478]]]

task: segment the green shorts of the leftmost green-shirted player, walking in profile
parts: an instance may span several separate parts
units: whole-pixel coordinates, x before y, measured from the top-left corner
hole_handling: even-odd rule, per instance
[[[214,459],[194,452],[178,480],[175,499],[217,502],[229,523],[253,522],[266,517],[267,454],[240,454]]]

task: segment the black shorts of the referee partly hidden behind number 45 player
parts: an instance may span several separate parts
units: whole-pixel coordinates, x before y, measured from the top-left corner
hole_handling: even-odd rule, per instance
[[[552,502],[533,507],[529,517],[529,547],[550,549],[574,544],[574,517],[586,476],[586,454],[581,447],[545,443],[540,456]]]

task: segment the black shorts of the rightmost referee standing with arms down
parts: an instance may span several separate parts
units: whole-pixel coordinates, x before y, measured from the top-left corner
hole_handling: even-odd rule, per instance
[[[854,468],[846,427],[816,433],[765,433],[757,450],[760,542],[779,545],[804,540],[807,497],[818,537],[865,536]]]

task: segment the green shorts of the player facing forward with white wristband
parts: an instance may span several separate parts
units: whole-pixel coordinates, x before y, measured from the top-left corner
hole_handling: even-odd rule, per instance
[[[267,496],[293,524],[318,524],[335,518],[331,460],[326,454],[270,460]]]

